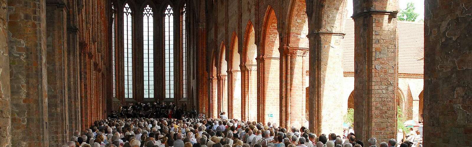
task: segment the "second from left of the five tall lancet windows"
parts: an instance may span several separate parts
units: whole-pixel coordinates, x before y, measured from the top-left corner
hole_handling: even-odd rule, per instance
[[[123,8],[123,12],[125,98],[133,98],[133,21],[131,17],[131,8],[129,8],[127,3]]]

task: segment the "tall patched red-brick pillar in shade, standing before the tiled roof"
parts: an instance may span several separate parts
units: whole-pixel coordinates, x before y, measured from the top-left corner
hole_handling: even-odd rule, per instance
[[[396,10],[396,0],[354,0],[354,131],[364,142],[396,138]]]

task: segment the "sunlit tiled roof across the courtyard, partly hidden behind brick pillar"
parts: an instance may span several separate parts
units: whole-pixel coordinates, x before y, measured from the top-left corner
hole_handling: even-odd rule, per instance
[[[423,23],[397,22],[398,73],[423,74],[424,36]],[[354,72],[354,20],[347,19],[344,25],[343,69]]]

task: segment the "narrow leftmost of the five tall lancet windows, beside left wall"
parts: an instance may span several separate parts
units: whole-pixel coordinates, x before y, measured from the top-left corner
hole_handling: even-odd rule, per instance
[[[115,16],[116,10],[111,3],[111,72],[112,72],[112,79],[113,79],[113,98],[117,97],[117,70],[116,70],[116,40],[115,40],[115,23],[117,22]]]

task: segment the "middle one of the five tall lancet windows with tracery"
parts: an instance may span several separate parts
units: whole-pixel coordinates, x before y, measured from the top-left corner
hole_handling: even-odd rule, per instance
[[[149,5],[143,11],[144,98],[154,98],[154,21]]]

